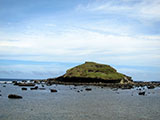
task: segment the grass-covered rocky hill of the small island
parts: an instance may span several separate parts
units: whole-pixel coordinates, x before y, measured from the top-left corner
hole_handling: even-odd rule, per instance
[[[109,65],[85,62],[73,67],[60,77],[54,79],[61,82],[96,82],[96,83],[130,83],[131,77],[118,73]]]

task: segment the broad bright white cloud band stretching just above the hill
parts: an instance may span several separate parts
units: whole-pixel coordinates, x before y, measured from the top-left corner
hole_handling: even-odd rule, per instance
[[[73,27],[64,31],[61,35],[50,36],[46,35],[47,32],[39,35],[15,34],[10,37],[19,41],[0,41],[1,55],[6,55],[6,59],[34,61],[92,60],[159,65],[160,36],[110,35]],[[5,59],[4,56],[1,58]]]

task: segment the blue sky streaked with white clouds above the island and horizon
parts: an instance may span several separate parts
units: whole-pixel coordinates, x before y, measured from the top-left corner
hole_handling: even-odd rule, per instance
[[[52,78],[85,61],[160,81],[160,0],[0,0],[0,78]]]

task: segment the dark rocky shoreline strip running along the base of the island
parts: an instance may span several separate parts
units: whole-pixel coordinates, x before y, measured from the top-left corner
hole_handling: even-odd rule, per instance
[[[102,82],[65,82],[57,81],[51,79],[41,79],[41,80],[22,80],[22,81],[0,81],[1,84],[14,84],[18,86],[30,86],[31,83],[34,84],[46,84],[47,86],[51,85],[74,85],[74,86],[100,86],[100,87],[110,87],[110,88],[120,88],[120,89],[131,89],[134,87],[147,87],[149,89],[160,87],[160,81],[133,81],[131,83],[102,83]],[[32,84],[33,86],[33,84]]]

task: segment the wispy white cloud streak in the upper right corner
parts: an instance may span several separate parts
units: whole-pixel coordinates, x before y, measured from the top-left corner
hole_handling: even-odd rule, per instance
[[[95,1],[87,5],[80,4],[77,11],[128,15],[136,19],[160,19],[160,0],[109,0]]]

